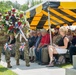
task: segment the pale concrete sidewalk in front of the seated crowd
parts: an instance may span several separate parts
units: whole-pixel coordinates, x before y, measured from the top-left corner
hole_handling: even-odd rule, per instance
[[[25,62],[20,60],[20,66],[16,66],[15,59],[11,58],[11,64],[13,68],[11,69],[18,75],[65,75],[65,69],[58,67],[46,67],[38,65],[37,63],[30,63],[30,67],[25,66]],[[6,67],[5,57],[2,55],[1,65]]]

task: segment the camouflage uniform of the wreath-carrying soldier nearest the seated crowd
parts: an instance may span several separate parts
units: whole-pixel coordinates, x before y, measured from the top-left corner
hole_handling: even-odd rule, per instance
[[[22,30],[24,31],[24,35],[26,35],[27,31],[28,31],[28,27],[24,27]],[[26,62],[26,66],[30,66],[29,64],[29,46],[28,46],[28,42],[26,42],[23,38],[22,38],[23,42],[26,43],[25,48],[24,48],[24,59]],[[19,65],[19,58],[20,58],[20,51],[19,51],[19,47],[20,47],[20,43],[19,43],[19,36],[17,38],[17,43],[16,43],[16,52],[15,52],[15,59],[16,59],[16,65]]]

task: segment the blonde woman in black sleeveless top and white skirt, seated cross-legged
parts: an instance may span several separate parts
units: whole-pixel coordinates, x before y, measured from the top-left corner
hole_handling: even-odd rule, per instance
[[[65,54],[67,52],[67,49],[69,48],[69,39],[66,37],[66,34],[68,32],[68,29],[66,27],[60,27],[59,29],[60,35],[62,38],[58,41],[58,45],[49,45],[48,46],[48,52],[50,57],[50,63],[48,67],[54,66],[54,59],[53,54]]]

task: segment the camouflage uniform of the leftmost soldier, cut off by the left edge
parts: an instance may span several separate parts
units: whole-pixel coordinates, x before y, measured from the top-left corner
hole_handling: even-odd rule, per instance
[[[7,41],[6,39],[7,35],[4,34],[4,32],[0,32],[0,59],[1,59],[1,52],[2,52],[2,48],[4,48],[4,44],[5,42]],[[4,50],[3,49],[3,52],[5,52],[5,60],[7,62],[7,67],[8,68],[11,68],[12,66],[10,65],[10,51],[8,49]]]

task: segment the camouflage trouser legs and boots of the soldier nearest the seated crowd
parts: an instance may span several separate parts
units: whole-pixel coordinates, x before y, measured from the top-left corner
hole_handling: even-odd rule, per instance
[[[22,42],[24,42],[24,40],[22,40]],[[15,52],[16,65],[20,65],[20,63],[19,63],[19,58],[20,58],[19,47],[20,47],[20,43],[17,42],[16,43],[16,52]],[[29,53],[28,53],[28,49],[29,49],[28,42],[26,42],[23,51],[24,51],[24,59],[25,59],[25,62],[26,62],[26,66],[27,67],[30,66],[30,64],[29,64]]]

